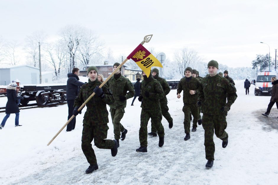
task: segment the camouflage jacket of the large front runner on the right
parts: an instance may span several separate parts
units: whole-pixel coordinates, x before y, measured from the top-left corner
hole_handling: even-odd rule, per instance
[[[223,114],[220,109],[225,105],[230,107],[235,102],[236,91],[232,83],[219,75],[204,77],[198,98],[202,102],[202,112],[209,115]]]

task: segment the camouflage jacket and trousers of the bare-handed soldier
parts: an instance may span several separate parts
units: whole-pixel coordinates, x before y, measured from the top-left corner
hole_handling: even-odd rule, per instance
[[[178,84],[177,94],[183,91],[183,108],[184,112],[184,131],[186,134],[190,133],[190,114],[193,115],[193,127],[197,127],[197,121],[200,115],[200,109],[197,107],[197,99],[201,82],[199,79],[192,76],[189,82],[186,81],[186,77],[182,78]],[[191,95],[189,90],[196,91],[195,94]],[[190,113],[191,112],[191,113]]]

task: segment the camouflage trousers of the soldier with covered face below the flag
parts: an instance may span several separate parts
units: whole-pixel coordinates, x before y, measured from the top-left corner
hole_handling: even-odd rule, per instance
[[[157,134],[159,137],[164,136],[164,127],[161,124],[162,114],[161,111],[154,111],[154,112],[146,112],[144,109],[141,110],[141,123],[140,123],[140,130],[139,130],[139,141],[140,146],[147,147],[148,146],[148,121],[153,121],[154,126],[156,127]]]

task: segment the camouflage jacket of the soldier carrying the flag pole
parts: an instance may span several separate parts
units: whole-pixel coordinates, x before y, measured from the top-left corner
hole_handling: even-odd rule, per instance
[[[74,107],[80,107],[93,94],[95,87],[101,85],[101,82],[98,80],[93,83],[93,86],[90,86],[91,83],[93,82],[90,82],[89,79],[89,83],[81,87],[78,96],[75,98]],[[114,97],[109,93],[106,84],[102,86],[102,91],[104,92],[103,99],[95,94],[86,104],[87,110],[83,119],[85,125],[102,125],[109,122],[106,104],[113,104]]]

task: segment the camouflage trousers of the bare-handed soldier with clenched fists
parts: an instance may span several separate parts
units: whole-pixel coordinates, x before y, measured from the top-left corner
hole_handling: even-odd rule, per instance
[[[182,107],[182,112],[184,112],[184,132],[186,134],[190,133],[190,114],[193,115],[193,127],[197,127],[198,119],[200,118],[200,109],[197,104],[184,104]]]

